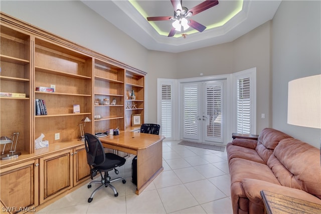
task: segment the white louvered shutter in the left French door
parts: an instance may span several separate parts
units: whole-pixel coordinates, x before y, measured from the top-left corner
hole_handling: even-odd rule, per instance
[[[184,135],[197,136],[195,122],[198,113],[197,85],[184,87]]]

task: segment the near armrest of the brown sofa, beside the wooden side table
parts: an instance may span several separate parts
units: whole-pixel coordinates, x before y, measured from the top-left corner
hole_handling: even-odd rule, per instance
[[[260,194],[261,190],[289,195],[291,197],[299,198],[301,200],[307,200],[313,203],[321,203],[321,200],[318,197],[306,191],[270,183],[267,181],[245,178],[242,180],[242,187],[249,200],[260,206],[263,206],[262,196]]]

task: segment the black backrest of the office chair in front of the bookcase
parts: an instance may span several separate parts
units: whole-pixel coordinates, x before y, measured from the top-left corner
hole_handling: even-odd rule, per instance
[[[85,133],[85,147],[87,163],[91,166],[99,166],[105,161],[105,151],[102,143],[95,135]]]

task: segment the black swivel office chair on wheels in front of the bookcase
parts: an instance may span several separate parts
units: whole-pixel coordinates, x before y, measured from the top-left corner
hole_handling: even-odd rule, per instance
[[[124,165],[126,159],[113,153],[105,153],[104,147],[98,137],[89,133],[85,133],[85,147],[87,152],[87,163],[90,166],[91,179],[97,175],[97,172],[99,172],[101,176],[100,181],[92,180],[88,184],[88,188],[90,188],[92,183],[101,183],[101,185],[91,193],[88,202],[90,203],[92,201],[94,194],[103,186],[109,186],[114,191],[114,196],[118,196],[116,188],[110,183],[119,179],[122,179],[122,183],[126,183],[126,180],[123,177],[117,177],[111,180],[108,171],[114,169],[115,173],[118,174],[116,167]],[[104,172],[104,176],[102,175],[102,172]]]

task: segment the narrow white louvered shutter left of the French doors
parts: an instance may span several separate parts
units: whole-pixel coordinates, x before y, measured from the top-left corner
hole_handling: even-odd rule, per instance
[[[172,137],[172,114],[173,114],[173,100],[172,100],[172,85],[162,85],[162,101],[161,101],[161,127],[162,134],[166,138]]]

